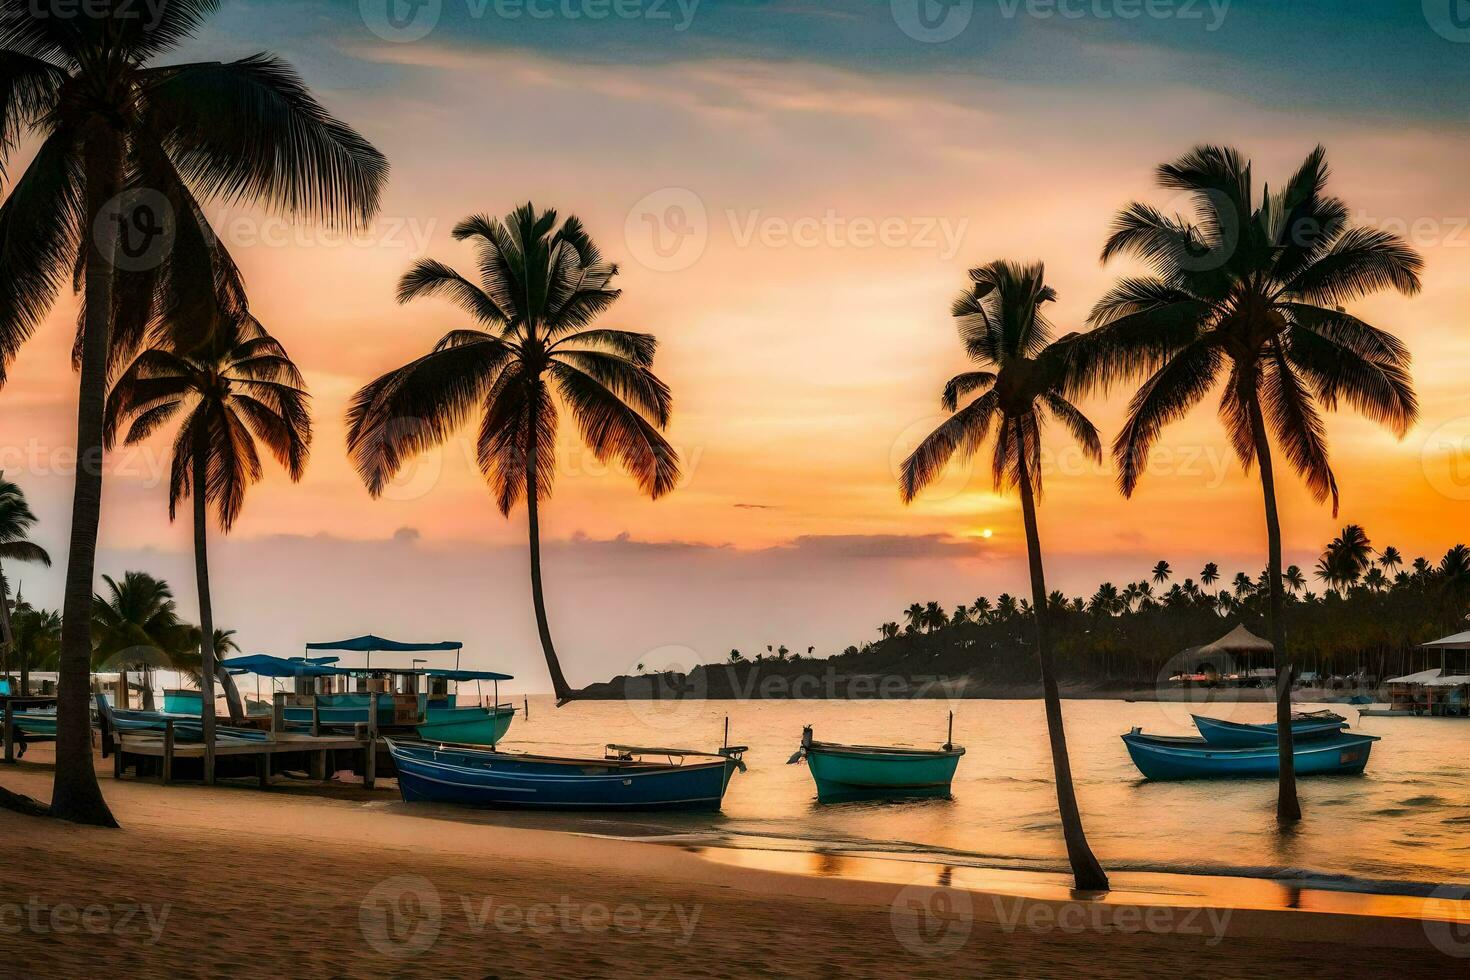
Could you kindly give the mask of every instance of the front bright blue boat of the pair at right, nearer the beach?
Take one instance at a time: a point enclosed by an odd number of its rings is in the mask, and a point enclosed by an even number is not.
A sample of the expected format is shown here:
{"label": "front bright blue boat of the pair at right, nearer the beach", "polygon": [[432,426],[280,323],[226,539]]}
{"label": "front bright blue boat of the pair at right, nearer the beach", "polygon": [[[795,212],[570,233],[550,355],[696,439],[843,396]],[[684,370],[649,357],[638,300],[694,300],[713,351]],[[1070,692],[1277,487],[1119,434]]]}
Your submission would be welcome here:
{"label": "front bright blue boat of the pair at right, nearer the beach", "polygon": [[[1298,776],[1361,773],[1376,735],[1338,732],[1297,742],[1292,755]],[[1145,779],[1250,779],[1280,774],[1274,743],[1226,748],[1201,738],[1144,735],[1133,729],[1123,736],[1127,754]]]}

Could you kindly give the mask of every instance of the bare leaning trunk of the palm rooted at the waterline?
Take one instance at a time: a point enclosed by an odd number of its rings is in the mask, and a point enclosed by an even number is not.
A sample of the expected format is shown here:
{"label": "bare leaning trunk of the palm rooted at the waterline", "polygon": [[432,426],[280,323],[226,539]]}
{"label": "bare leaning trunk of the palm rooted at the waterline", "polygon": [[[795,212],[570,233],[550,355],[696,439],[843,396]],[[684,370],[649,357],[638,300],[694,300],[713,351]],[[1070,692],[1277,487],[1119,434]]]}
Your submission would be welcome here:
{"label": "bare leaning trunk of the palm rooted at the waterline", "polygon": [[1051,741],[1051,768],[1057,780],[1057,808],[1061,811],[1061,836],[1067,842],[1067,861],[1079,890],[1105,892],[1107,873],[1088,845],[1078,810],[1078,793],[1072,786],[1072,761],[1067,757],[1067,732],[1061,723],[1061,693],[1053,673],[1051,648],[1047,645],[1047,580],[1041,567],[1041,535],[1036,530],[1036,501],[1030,492],[1030,470],[1020,458],[1020,510],[1026,520],[1026,552],[1030,558],[1030,604],[1036,619],[1036,658],[1041,661],[1041,692],[1047,705],[1047,736]]}

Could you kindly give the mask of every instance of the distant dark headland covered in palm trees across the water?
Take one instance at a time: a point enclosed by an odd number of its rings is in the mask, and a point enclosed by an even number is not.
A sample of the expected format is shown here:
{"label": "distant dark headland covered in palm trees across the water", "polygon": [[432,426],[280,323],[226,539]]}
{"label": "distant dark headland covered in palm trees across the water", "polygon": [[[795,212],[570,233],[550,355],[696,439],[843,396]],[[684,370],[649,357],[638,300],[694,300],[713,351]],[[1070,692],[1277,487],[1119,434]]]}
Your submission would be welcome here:
{"label": "distant dark headland covered in palm trees across the water", "polygon": [[[1283,573],[1297,661],[1324,676],[1363,671],[1382,680],[1410,670],[1420,644],[1464,627],[1470,547],[1454,545],[1438,561],[1414,558],[1405,567],[1398,548],[1360,551],[1366,541],[1363,529],[1349,525],[1323,548],[1316,574],[1320,592],[1307,589],[1298,566]],[[1170,657],[1216,639],[1230,621],[1254,629],[1264,621],[1264,570],[1257,576],[1239,572],[1232,588],[1220,591],[1208,588],[1219,580],[1213,561],[1198,580],[1185,577],[1164,589],[1152,588],[1151,576],[1152,570],[1123,588],[1104,582],[1092,595],[1047,595],[1069,677],[1089,685],[1151,685]],[[1010,594],[982,595],[948,613],[939,602],[914,602],[900,620],[878,626],[878,641],[851,645],[842,655],[944,658],[947,666],[957,658],[995,682],[1023,682],[1025,661],[1017,654],[1032,619],[1032,602]]]}

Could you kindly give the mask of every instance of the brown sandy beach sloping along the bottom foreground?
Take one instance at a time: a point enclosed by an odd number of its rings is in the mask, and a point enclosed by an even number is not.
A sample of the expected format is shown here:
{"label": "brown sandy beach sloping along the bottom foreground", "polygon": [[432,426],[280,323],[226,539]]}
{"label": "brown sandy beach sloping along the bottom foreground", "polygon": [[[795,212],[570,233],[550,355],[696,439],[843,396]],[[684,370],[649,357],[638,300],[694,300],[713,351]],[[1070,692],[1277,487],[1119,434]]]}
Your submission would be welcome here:
{"label": "brown sandy beach sloping along the bottom foreground", "polygon": [[[50,746],[0,773],[50,792]],[[98,767],[100,771],[106,771]],[[1454,973],[1454,927],[786,874],[487,826],[392,785],[103,789],[121,830],[0,813],[6,976],[1200,977]],[[1448,937],[1448,939],[1446,939]],[[1446,948],[1448,946],[1448,948]]]}

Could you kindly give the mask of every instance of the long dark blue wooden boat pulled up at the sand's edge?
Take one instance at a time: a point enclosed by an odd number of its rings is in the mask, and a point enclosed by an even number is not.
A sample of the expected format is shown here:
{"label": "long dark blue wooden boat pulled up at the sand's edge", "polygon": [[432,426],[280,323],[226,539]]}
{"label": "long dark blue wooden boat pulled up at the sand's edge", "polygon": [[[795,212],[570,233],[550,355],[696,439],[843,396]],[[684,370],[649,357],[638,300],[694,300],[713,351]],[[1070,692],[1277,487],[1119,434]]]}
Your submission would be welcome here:
{"label": "long dark blue wooden boat pulled up at the sand's edge", "polygon": [[[404,802],[538,810],[719,810],[745,746],[609,745],[607,758],[522,755],[384,739]],[[644,757],[663,755],[651,763]],[[697,761],[684,761],[692,758]]]}

